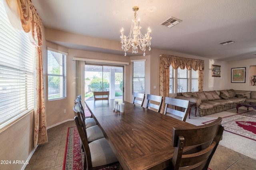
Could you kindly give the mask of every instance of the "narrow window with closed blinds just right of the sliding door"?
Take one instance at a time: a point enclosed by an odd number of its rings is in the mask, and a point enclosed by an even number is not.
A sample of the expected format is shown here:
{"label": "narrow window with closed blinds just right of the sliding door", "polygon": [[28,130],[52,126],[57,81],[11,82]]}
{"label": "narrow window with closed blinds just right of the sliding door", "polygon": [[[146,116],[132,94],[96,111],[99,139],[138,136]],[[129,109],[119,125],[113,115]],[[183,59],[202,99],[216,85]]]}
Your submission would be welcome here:
{"label": "narrow window with closed blinds just right of the sliding door", "polygon": [[132,94],[145,93],[145,61],[132,61]]}

